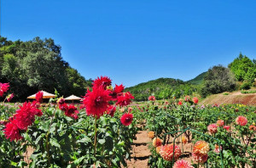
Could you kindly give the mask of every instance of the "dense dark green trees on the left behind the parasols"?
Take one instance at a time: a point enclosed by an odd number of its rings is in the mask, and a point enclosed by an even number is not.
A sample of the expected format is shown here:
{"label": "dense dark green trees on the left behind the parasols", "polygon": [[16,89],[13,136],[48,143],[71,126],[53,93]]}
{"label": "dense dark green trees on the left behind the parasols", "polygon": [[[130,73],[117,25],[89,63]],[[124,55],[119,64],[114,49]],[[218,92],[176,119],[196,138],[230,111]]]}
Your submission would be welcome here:
{"label": "dense dark green trees on the left behind the parasols", "polygon": [[0,37],[0,82],[9,82],[16,100],[44,90],[63,96],[84,95],[91,80],[85,80],[61,57],[61,46],[51,38],[12,42]]}

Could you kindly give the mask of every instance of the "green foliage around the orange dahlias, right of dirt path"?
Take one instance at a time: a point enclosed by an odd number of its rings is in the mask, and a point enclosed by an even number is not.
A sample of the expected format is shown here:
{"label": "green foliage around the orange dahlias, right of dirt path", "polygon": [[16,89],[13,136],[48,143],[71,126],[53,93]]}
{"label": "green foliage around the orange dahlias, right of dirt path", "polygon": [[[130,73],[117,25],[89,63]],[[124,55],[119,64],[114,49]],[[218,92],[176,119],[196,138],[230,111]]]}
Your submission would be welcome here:
{"label": "green foliage around the orange dahlias, right of dirt path", "polygon": [[[174,143],[174,138],[176,138],[175,145],[183,151],[179,159],[191,157],[195,142],[203,140],[209,143],[210,151],[207,153],[207,162],[198,164],[195,160],[191,160],[194,167],[221,167],[221,157],[224,167],[254,167],[256,165],[256,155],[253,152],[256,149],[256,130],[253,131],[250,126],[255,125],[253,123],[256,117],[255,110],[255,107],[242,104],[214,104],[201,107],[189,102],[178,105],[177,101],[168,105],[154,104],[148,106],[147,128],[148,131],[154,132],[155,137],[162,139],[162,145]],[[246,126],[236,124],[235,119],[239,115],[247,118]],[[227,131],[224,126],[218,126],[216,133],[208,132],[207,126],[216,123],[217,120],[224,120],[224,125],[230,126],[230,130]],[[183,132],[186,128],[192,131]],[[181,137],[186,137],[188,144],[181,143]],[[221,149],[216,152],[216,145],[219,143]],[[192,145],[191,150],[190,145]],[[149,144],[149,148],[152,152],[148,160],[150,167],[172,167],[174,162],[163,160],[153,143]]]}

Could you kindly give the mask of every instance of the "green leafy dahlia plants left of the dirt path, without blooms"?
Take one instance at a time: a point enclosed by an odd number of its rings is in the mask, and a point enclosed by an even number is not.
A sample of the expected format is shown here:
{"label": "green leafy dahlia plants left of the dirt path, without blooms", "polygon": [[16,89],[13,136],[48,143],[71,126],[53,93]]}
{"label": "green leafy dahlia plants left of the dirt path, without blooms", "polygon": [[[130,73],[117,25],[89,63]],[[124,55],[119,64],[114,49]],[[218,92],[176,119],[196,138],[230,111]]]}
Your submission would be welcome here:
{"label": "green leafy dahlia plants left of the dirt path, without blooms", "polygon": [[[137,133],[139,113],[134,114],[130,126],[123,126],[119,120],[123,115],[120,111],[114,117],[103,115],[95,120],[80,110],[79,119],[73,120],[53,104],[51,106],[42,108],[44,115],[37,117],[33,125],[22,132],[24,138],[18,142],[6,139],[2,131],[5,126],[0,125],[1,167],[87,168],[95,164],[96,167],[118,168],[126,165],[125,160],[130,158],[131,143]],[[13,113],[13,108],[0,105],[0,120],[7,120]],[[33,150],[30,157],[26,156],[27,148]]]}

